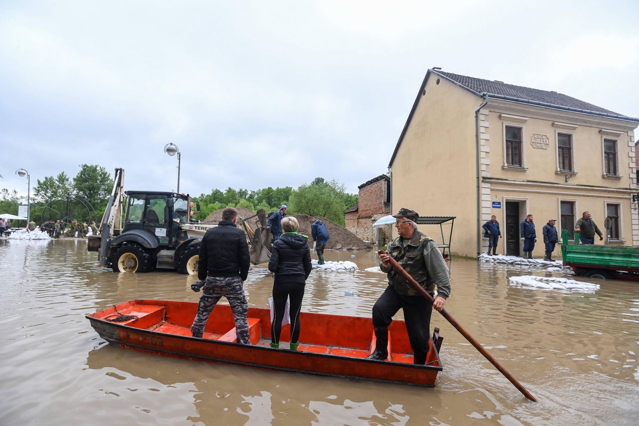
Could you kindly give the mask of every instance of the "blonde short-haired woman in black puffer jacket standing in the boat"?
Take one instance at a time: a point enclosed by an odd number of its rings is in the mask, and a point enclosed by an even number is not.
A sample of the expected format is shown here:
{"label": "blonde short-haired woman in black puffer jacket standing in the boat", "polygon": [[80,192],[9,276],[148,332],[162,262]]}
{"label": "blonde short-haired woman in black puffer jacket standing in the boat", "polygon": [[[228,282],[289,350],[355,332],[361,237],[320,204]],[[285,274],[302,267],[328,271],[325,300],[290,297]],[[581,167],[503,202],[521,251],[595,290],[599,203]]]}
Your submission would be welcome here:
{"label": "blonde short-haired woman in black puffer jacket standing in the boat", "polygon": [[300,310],[304,298],[304,285],[311,274],[311,251],[306,235],[297,233],[300,224],[297,219],[287,216],[282,219],[282,233],[273,242],[268,270],[275,272],[273,281],[273,323],[271,324],[271,347],[279,348],[282,333],[282,319],[286,299],[291,298],[291,351],[297,351],[300,338]]}

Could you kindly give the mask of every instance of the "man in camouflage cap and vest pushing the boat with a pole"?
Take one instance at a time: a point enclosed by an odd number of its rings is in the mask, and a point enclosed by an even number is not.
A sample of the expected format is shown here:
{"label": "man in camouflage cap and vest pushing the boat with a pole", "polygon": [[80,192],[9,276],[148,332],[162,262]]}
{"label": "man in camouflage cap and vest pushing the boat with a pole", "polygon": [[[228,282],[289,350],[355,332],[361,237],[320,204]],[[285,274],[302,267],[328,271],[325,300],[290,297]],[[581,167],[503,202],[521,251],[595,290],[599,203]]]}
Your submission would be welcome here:
{"label": "man in camouflage cap and vest pushing the boat with a pole", "polygon": [[[435,242],[417,230],[414,210],[400,209],[393,217],[399,237],[389,243],[386,253],[380,255],[380,268],[387,272],[389,287],[373,306],[373,327],[377,339],[375,350],[369,359],[386,359],[389,356],[389,325],[392,317],[401,308],[408,331],[410,346],[413,348],[413,363],[426,363],[429,351],[429,333],[433,306],[441,311],[450,295],[450,276],[442,253]],[[406,272],[431,295],[435,285],[438,294],[432,305],[413,287],[412,283],[390,265],[394,258]]]}

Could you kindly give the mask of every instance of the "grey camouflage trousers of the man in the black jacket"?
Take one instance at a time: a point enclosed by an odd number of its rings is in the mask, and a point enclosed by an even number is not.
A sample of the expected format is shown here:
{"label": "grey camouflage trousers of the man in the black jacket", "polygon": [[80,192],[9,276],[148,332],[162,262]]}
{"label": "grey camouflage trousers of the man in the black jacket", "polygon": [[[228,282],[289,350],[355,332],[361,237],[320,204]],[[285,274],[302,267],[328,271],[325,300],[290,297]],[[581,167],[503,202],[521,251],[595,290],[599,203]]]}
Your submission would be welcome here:
{"label": "grey camouflage trousers of the man in the black jacket", "polygon": [[208,317],[213,312],[213,308],[222,296],[226,297],[233,311],[235,319],[235,331],[238,336],[238,342],[250,345],[249,340],[249,322],[246,319],[249,313],[249,303],[244,296],[244,287],[242,279],[238,276],[231,277],[206,277],[203,287],[204,294],[200,297],[197,305],[196,319],[191,326],[191,334],[193,337],[202,337],[204,334],[204,326]]}

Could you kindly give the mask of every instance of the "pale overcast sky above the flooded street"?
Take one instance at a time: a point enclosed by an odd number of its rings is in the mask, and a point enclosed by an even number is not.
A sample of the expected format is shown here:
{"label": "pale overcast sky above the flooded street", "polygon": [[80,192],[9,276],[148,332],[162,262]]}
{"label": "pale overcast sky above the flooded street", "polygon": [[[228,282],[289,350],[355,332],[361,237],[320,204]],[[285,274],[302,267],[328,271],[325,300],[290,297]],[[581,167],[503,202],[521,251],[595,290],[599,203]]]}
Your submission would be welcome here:
{"label": "pale overcast sky above the flooded street", "polygon": [[315,177],[357,193],[432,67],[639,117],[637,1],[391,4],[0,1],[0,187],[86,163],[175,190],[172,142],[191,195]]}

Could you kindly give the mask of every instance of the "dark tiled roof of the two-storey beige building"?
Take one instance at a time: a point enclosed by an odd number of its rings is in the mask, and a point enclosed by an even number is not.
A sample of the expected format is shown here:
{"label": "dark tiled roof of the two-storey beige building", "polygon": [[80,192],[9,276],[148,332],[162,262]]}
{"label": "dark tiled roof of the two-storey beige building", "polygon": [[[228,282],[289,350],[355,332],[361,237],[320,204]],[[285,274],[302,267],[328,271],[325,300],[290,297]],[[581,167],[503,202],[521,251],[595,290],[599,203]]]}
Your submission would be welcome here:
{"label": "dark tiled roof of the two-storey beige building", "polygon": [[455,81],[479,94],[489,93],[493,95],[518,98],[521,100],[543,102],[545,104],[553,104],[567,108],[583,109],[585,111],[592,111],[594,113],[621,115],[619,113],[615,113],[614,111],[610,111],[610,109],[605,109],[593,104],[589,104],[588,102],[583,102],[583,100],[564,95],[563,93],[557,93],[556,91],[539,90],[525,86],[515,86],[514,84],[507,84],[493,80],[477,79],[475,77],[452,74],[452,72],[443,72],[441,70],[434,70],[433,72],[443,75],[443,77]]}

